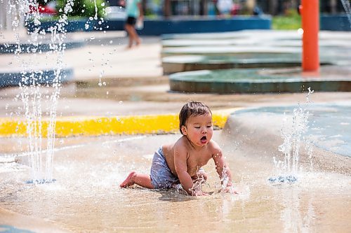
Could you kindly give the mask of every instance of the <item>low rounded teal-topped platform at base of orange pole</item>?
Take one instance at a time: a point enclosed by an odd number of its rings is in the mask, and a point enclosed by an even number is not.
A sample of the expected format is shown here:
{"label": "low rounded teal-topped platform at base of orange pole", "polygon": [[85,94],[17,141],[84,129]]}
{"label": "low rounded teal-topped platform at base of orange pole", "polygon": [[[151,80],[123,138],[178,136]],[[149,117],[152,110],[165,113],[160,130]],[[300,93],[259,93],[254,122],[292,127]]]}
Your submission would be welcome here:
{"label": "low rounded teal-topped platform at base of orange pole", "polygon": [[[330,76],[333,71],[335,75]],[[350,70],[329,66],[319,76],[301,73],[295,69],[225,69],[216,71],[188,71],[169,76],[172,91],[208,93],[267,93],[303,92],[311,87],[314,91],[350,92]]]}

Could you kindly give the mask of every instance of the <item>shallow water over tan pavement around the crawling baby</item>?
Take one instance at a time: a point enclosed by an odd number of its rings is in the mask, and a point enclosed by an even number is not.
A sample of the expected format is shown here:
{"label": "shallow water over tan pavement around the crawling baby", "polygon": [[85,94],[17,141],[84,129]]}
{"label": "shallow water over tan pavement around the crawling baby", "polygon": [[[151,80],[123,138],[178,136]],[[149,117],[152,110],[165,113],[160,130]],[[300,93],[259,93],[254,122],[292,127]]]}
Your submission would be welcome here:
{"label": "shallow water over tan pavement around the crawling baby", "polygon": [[[154,150],[180,134],[76,138],[58,146],[51,184],[29,185],[25,157],[12,170],[0,170],[0,208],[44,219],[72,232],[346,232],[350,228],[350,174],[301,174],[292,184],[269,183],[272,156],[238,148],[227,129],[216,131],[239,195],[221,194],[212,162],[208,197],[174,190],[119,188],[129,171],[148,173]],[[69,139],[67,139],[69,140]],[[251,151],[251,152],[250,152]]]}

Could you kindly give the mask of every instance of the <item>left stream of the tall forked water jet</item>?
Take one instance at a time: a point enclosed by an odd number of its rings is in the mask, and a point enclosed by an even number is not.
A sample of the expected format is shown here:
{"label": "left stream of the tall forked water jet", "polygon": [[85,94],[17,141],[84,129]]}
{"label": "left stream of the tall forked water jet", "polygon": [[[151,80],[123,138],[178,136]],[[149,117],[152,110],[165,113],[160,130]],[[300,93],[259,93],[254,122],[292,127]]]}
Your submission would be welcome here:
{"label": "left stream of the tall forked water jet", "polygon": [[[23,48],[20,44],[20,34],[18,29],[24,19],[27,22],[29,19],[34,21],[35,25],[40,25],[40,15],[37,7],[37,1],[13,1],[9,2],[9,15],[12,15],[12,27],[15,32],[15,56],[18,63],[21,65],[21,80],[18,83],[20,87],[20,99],[23,103],[23,111],[25,114],[25,122],[27,125],[28,134],[28,152],[29,164],[33,181],[39,181],[44,176],[41,169],[41,92],[39,82],[43,78],[42,71],[37,71],[34,68],[34,62],[25,62],[21,59]],[[36,61],[38,45],[40,42],[39,29],[30,34],[31,48],[29,51],[33,56],[31,61]]]}

